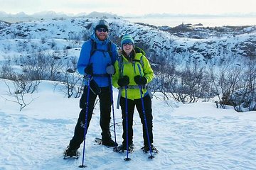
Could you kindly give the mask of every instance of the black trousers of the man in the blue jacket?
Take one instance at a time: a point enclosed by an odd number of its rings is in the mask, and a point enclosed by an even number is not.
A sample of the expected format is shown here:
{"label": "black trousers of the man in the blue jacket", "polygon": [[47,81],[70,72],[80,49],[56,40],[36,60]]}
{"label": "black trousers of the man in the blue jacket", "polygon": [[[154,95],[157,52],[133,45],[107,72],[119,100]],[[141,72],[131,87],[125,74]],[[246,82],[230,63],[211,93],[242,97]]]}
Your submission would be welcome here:
{"label": "black trousers of the man in the blue jacket", "polygon": [[[98,94],[100,98],[100,128],[102,129],[102,140],[109,140],[110,134],[110,113],[111,113],[111,92],[110,87],[101,88],[101,93]],[[90,120],[92,119],[92,112],[95,105],[97,95],[93,94],[90,90],[89,95],[89,108],[87,113],[87,128],[89,128]],[[86,100],[87,100],[87,86],[85,86],[84,93],[80,99],[84,103],[85,107],[82,108],[79,114],[78,122],[75,125],[75,132],[72,140],[70,140],[70,148],[78,149],[83,142],[85,132],[85,113],[86,113]],[[86,131],[87,133],[87,131]]]}

